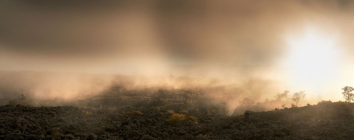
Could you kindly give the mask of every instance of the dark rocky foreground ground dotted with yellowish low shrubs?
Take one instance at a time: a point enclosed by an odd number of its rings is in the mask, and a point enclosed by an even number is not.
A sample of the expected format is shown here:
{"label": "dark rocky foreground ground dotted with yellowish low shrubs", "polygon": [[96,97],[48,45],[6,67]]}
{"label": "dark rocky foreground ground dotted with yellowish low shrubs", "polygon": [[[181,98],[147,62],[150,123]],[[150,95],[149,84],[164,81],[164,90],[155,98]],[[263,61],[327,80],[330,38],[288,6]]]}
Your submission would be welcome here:
{"label": "dark rocky foreground ground dotted with yellowish low shrubs", "polygon": [[[330,103],[325,105],[335,106]],[[354,119],[323,104],[226,116],[159,107],[0,106],[0,139],[352,139]],[[327,107],[328,108],[328,107]],[[307,112],[307,113],[306,113]],[[327,113],[327,114],[328,114]],[[296,115],[298,114],[298,115]],[[316,116],[314,115],[316,114]]]}

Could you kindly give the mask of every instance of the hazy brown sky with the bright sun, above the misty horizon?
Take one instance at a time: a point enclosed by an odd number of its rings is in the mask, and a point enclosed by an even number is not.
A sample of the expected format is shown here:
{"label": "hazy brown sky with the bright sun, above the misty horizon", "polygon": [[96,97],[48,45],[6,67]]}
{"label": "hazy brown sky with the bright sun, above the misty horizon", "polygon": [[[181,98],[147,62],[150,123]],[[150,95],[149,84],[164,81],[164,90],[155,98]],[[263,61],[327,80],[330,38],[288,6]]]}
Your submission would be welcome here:
{"label": "hazy brown sky with the bright sun, above the misty horizon", "polygon": [[1,1],[0,70],[269,80],[342,100],[354,4]]}

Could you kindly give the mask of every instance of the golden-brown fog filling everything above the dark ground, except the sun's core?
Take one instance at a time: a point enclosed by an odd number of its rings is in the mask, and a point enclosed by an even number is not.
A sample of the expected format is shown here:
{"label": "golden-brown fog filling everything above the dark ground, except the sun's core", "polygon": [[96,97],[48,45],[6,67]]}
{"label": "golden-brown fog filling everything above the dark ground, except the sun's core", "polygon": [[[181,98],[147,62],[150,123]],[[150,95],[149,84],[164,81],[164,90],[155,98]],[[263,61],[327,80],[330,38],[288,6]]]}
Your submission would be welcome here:
{"label": "golden-brown fog filling everything above the dark ground, except the sun's core", "polygon": [[[201,87],[230,97],[232,107],[284,90],[306,91],[303,105],[342,100],[340,88],[354,82],[353,6],[344,0],[2,1],[0,98],[73,100],[123,84]],[[326,65],[336,69],[312,77],[321,66],[287,61],[287,40],[307,30],[336,38],[338,58]],[[317,49],[306,51],[319,56]]]}

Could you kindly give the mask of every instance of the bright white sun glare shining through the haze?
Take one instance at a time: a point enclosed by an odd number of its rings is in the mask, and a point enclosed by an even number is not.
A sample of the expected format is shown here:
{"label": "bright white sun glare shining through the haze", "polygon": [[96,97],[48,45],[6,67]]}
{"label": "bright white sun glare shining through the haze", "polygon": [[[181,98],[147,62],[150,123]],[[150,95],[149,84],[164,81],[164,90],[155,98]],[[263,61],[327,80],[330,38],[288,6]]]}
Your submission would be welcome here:
{"label": "bright white sun glare shining through the haze", "polygon": [[[333,36],[307,31],[287,38],[285,65],[292,85],[316,90],[337,77],[338,53]],[[304,89],[305,90],[305,89]]]}

